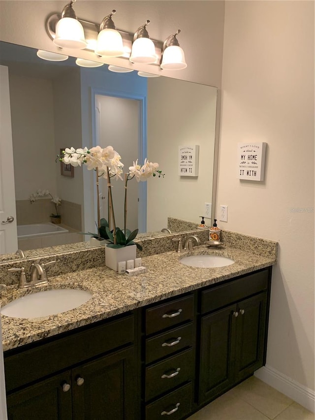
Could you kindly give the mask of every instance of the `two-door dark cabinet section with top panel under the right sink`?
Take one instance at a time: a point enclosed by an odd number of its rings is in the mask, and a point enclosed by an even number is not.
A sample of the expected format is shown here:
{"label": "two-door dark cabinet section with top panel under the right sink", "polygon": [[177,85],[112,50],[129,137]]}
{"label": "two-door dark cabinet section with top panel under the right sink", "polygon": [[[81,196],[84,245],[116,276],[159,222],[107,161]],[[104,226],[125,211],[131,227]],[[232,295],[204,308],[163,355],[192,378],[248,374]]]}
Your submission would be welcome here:
{"label": "two-door dark cabinet section with top panel under the right sink", "polygon": [[[203,293],[202,311],[210,312],[200,319],[199,404],[213,400],[263,366],[268,278],[268,271],[257,273],[254,284],[252,275],[244,277],[232,296],[228,284]],[[242,297],[252,291],[256,294],[226,305],[235,295]]]}

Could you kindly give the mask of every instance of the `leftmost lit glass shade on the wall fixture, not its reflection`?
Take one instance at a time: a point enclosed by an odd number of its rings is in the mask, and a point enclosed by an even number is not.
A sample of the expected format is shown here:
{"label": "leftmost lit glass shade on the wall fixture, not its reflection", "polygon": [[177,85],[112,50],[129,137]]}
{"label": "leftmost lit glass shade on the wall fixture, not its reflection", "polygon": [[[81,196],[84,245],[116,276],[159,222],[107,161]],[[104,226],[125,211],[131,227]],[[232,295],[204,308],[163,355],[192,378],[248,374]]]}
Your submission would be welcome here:
{"label": "leftmost lit glass shade on the wall fixture, not its reflection", "polygon": [[54,44],[61,48],[82,50],[87,46],[81,23],[73,18],[62,18],[56,25]]}

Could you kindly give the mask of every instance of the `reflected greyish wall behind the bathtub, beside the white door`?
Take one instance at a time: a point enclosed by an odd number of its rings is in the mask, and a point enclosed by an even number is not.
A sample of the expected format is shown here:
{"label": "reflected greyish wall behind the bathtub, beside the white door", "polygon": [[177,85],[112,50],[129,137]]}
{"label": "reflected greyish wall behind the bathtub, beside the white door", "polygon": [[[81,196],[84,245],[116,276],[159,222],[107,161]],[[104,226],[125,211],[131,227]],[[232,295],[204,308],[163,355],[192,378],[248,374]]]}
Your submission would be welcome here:
{"label": "reflected greyish wall behind the bathtub, beside the white door", "polygon": [[[57,193],[54,109],[51,80],[9,75],[15,197],[25,200],[38,189]],[[38,174],[40,177],[38,178]]]}

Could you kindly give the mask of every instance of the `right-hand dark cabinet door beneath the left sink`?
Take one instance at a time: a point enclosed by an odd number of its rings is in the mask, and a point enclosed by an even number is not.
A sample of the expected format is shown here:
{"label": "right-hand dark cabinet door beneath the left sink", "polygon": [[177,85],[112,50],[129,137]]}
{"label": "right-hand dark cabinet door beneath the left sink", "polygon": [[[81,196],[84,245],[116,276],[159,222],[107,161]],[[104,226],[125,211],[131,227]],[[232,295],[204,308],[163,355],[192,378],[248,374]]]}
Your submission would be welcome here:
{"label": "right-hand dark cabinet door beneath the left sink", "polygon": [[72,369],[73,420],[134,420],[133,347]]}

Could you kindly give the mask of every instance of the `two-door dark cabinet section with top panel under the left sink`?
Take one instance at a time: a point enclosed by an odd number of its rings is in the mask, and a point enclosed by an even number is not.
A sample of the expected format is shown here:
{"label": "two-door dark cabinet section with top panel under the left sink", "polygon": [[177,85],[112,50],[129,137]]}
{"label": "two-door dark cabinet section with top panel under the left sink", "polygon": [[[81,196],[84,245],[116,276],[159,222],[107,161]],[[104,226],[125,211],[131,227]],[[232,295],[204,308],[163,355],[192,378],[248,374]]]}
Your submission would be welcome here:
{"label": "two-door dark cabinet section with top panel under the left sink", "polygon": [[[137,419],[139,387],[133,340],[133,316],[126,316],[22,353],[6,354],[8,419]],[[101,355],[95,357],[97,354]],[[42,363],[48,378],[38,368]],[[63,370],[65,365],[68,369]],[[62,372],[56,374],[56,370]]]}

